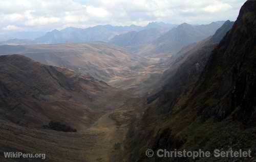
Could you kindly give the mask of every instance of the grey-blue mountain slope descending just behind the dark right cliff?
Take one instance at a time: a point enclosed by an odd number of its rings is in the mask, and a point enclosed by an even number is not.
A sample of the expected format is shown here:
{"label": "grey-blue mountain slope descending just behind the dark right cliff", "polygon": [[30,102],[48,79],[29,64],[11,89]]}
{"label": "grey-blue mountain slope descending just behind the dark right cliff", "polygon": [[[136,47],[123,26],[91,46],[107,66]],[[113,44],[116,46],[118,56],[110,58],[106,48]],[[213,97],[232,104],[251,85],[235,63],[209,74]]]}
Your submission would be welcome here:
{"label": "grey-blue mountain slope descending just behind the dark right cliff", "polygon": [[227,20],[212,37],[185,46],[178,53],[164,60],[163,64],[169,69],[164,71],[162,78],[155,85],[158,90],[164,88],[157,94],[148,97],[148,102],[155,100],[163,91],[168,93],[169,100],[174,100],[173,97],[180,95],[187,88],[187,85],[195,84],[209,59],[211,51],[220,42],[216,39],[222,40],[232,28],[233,23]]}

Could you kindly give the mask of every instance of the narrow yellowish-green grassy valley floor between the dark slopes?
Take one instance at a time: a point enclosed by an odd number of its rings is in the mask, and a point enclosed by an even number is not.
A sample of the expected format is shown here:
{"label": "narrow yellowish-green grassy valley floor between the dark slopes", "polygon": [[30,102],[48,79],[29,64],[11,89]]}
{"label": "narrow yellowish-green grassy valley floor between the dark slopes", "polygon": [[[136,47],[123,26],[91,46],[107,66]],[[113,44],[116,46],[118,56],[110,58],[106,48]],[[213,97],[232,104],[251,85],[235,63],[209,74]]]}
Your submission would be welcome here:
{"label": "narrow yellowish-green grassy valley floor between the dark slopes", "polygon": [[83,148],[84,161],[120,162],[118,158],[124,150],[123,141],[130,123],[140,114],[140,100],[131,98],[120,109],[107,112],[90,128],[82,131],[83,139],[87,139]]}

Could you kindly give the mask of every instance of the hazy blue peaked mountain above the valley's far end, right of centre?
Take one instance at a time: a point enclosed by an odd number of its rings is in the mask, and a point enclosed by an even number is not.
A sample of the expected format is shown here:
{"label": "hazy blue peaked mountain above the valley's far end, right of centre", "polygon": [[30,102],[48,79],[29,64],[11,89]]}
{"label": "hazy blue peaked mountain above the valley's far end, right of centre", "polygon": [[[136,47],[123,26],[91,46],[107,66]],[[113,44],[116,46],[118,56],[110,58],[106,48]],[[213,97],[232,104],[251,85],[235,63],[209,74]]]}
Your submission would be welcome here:
{"label": "hazy blue peaked mountain above the valley's far end, right of centre", "polygon": [[214,35],[222,24],[212,22],[207,25],[191,25],[183,23],[167,33],[162,34],[152,43],[141,46],[133,52],[142,56],[159,55],[161,53],[177,53],[182,47],[201,41]]}

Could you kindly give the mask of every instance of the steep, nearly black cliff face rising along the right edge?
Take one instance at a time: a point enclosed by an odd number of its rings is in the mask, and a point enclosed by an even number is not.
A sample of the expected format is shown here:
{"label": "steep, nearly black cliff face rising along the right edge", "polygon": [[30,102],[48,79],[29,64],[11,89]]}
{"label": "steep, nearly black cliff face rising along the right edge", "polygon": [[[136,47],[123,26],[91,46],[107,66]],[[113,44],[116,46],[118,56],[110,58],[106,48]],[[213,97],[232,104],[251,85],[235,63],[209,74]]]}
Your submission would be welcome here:
{"label": "steep, nearly black cliff face rising along the right edge", "polygon": [[247,1],[232,30],[212,52],[193,101],[215,102],[201,106],[191,104],[204,116],[222,120],[231,114],[240,114],[245,122],[255,119],[255,9],[256,2]]}

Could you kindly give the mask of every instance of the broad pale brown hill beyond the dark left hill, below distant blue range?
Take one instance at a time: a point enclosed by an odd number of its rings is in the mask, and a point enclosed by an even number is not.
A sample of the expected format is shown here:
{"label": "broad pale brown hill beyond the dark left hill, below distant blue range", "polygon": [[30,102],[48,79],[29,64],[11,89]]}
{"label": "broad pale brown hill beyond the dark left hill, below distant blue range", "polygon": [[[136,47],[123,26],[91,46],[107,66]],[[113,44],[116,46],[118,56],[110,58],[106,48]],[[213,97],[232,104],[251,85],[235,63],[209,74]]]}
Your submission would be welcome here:
{"label": "broad pale brown hill beyond the dark left hill, below distant blue range", "polygon": [[11,54],[24,55],[42,64],[66,67],[105,81],[130,75],[140,63],[139,58],[130,56],[123,48],[104,42],[0,46],[0,55]]}

